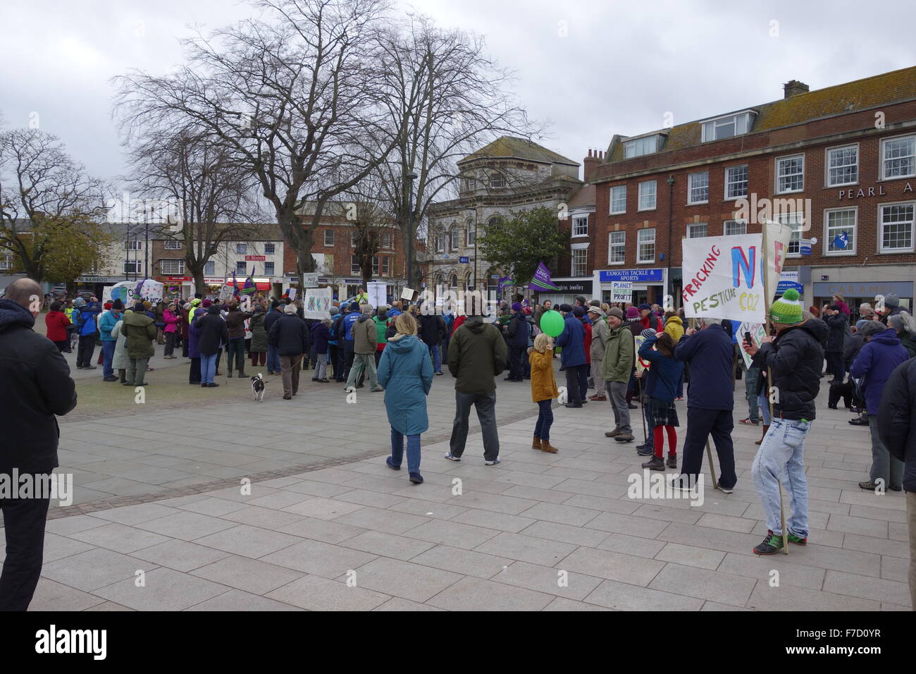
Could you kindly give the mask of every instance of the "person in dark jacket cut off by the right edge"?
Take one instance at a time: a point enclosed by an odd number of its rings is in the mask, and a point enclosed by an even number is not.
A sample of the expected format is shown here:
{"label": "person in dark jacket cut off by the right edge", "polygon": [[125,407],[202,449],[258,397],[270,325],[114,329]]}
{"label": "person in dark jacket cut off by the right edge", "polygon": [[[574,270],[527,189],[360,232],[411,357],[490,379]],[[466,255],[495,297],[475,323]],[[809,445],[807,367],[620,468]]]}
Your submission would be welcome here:
{"label": "person in dark jacket cut off by the right edge", "polygon": [[878,405],[878,435],[890,455],[904,462],[903,490],[907,492],[910,526],[910,598],[916,608],[916,359],[890,373]]}

